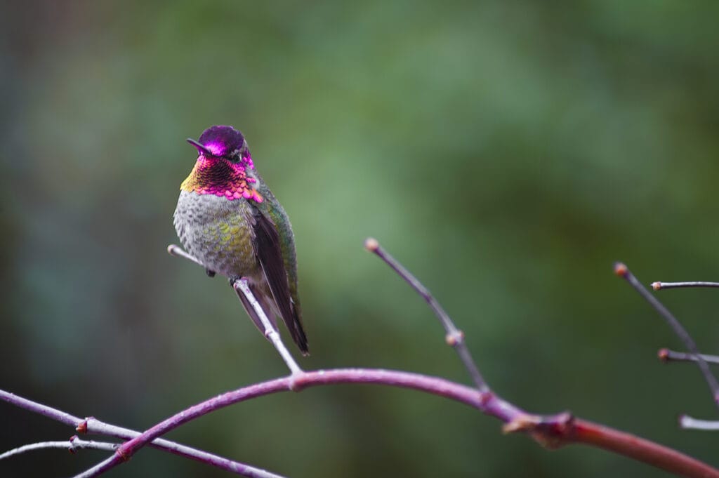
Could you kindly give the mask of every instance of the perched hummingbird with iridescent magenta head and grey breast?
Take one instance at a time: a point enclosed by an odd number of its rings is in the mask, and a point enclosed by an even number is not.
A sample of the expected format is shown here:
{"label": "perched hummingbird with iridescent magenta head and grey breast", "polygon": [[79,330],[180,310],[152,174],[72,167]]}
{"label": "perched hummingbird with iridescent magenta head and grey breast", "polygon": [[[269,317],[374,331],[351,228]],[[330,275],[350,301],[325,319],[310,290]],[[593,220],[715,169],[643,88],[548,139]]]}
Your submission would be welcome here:
{"label": "perched hummingbird with iridescent magenta head and grey breast", "polygon": [[[207,275],[247,279],[267,317],[285,322],[303,355],[309,354],[297,292],[297,260],[292,226],[285,209],[267,188],[252,162],[247,141],[231,126],[206,129],[187,140],[198,157],[180,185],[173,216],[183,247]],[[255,309],[240,294],[244,310],[261,332]]]}

